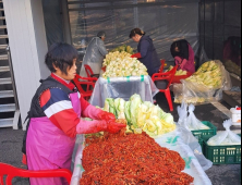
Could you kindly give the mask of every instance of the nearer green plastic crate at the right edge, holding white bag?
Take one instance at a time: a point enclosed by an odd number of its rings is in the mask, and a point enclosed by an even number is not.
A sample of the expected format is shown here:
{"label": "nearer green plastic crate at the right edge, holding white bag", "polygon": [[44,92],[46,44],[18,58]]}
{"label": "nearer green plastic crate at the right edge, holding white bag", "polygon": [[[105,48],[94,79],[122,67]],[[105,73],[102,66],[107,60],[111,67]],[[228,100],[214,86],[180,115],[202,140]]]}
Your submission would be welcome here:
{"label": "nearer green plastic crate at the right edge, holding white bag", "polygon": [[215,165],[241,163],[241,145],[208,146],[207,141],[209,138],[210,136],[203,136],[204,155]]}

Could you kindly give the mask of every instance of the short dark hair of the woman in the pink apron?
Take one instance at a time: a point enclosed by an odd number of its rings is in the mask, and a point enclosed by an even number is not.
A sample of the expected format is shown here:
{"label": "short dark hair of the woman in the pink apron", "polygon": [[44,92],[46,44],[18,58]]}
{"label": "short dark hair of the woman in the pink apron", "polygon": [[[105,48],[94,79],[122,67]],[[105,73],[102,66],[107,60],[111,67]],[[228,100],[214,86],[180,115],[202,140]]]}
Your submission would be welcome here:
{"label": "short dark hair of the woman in the pink apron", "polygon": [[56,72],[55,64],[62,73],[68,74],[68,67],[72,67],[73,60],[77,59],[77,51],[73,46],[58,42],[49,48],[45,63],[52,73]]}

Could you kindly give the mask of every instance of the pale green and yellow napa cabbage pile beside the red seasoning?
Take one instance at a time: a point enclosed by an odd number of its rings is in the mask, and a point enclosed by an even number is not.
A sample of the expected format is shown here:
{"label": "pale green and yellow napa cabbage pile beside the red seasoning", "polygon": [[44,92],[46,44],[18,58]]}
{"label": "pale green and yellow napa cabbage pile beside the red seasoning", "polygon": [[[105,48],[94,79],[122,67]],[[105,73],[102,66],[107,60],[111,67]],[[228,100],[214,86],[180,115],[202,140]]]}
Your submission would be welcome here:
{"label": "pale green and yellow napa cabbage pile beside the red seasoning", "polygon": [[176,130],[173,116],[164,112],[159,106],[143,102],[140,95],[133,95],[129,101],[122,98],[105,101],[105,111],[113,113],[117,119],[128,121],[128,132],[144,131],[152,137],[170,133]]}

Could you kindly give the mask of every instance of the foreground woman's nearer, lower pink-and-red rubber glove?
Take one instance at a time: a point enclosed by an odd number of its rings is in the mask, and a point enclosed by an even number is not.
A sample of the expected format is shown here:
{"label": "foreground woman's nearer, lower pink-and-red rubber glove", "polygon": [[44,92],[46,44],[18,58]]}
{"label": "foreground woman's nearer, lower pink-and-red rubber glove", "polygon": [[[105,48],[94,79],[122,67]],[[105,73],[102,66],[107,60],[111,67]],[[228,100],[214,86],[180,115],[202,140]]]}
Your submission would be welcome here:
{"label": "foreground woman's nearer, lower pink-and-red rubber glove", "polygon": [[76,126],[77,134],[94,134],[99,132],[109,132],[111,134],[118,133],[120,130],[126,127],[125,124],[116,123],[116,121],[84,121],[81,120]]}

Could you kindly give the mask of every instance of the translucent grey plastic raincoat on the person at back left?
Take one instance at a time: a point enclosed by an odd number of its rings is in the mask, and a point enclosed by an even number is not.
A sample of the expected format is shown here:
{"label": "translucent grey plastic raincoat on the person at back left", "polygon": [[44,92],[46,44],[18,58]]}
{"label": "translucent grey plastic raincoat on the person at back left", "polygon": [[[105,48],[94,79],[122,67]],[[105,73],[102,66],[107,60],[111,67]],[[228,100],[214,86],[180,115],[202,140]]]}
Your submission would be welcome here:
{"label": "translucent grey plastic raincoat on the person at back left", "polygon": [[80,76],[87,77],[84,65],[87,64],[93,70],[94,74],[100,74],[105,55],[108,53],[105,42],[95,37],[90,40],[86,54],[84,55]]}

